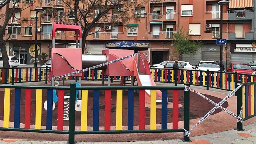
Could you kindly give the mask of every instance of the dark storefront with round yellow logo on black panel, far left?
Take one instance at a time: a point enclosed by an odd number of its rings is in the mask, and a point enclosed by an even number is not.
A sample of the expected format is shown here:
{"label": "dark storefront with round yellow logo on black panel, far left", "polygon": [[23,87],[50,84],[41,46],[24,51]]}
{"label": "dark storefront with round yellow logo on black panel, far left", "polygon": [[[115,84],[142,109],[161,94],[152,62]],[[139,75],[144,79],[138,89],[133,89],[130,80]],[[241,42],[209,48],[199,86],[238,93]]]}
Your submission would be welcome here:
{"label": "dark storefront with round yellow logo on black panel, far left", "polygon": [[[38,56],[36,62],[41,64],[41,44],[37,45]],[[13,56],[19,60],[20,65],[33,65],[35,63],[35,44],[33,43],[13,43]]]}

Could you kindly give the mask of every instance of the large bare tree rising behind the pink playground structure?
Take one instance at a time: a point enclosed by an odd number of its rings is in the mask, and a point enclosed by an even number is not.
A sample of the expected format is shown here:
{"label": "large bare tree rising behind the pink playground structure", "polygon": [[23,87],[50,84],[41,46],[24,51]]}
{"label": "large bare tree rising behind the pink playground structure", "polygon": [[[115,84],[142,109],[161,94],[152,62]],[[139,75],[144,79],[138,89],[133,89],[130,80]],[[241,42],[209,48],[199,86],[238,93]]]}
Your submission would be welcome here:
{"label": "large bare tree rising behind the pink playground structure", "polygon": [[98,32],[94,30],[95,26],[104,28],[107,24],[122,25],[127,28],[130,21],[139,21],[140,9],[147,0],[64,0],[62,2],[69,9],[66,15],[81,24],[84,54],[87,36]]}

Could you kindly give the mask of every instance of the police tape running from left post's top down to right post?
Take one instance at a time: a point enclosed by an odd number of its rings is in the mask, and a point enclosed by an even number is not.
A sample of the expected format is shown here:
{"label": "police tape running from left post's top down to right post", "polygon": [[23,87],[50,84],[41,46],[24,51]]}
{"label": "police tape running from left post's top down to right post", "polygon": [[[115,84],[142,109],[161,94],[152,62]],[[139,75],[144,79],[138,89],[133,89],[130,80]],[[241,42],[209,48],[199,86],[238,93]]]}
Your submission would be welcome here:
{"label": "police tape running from left post's top down to right post", "polygon": [[[216,102],[214,102],[214,101],[212,101],[211,99],[209,99],[208,97],[202,95],[202,94],[199,93],[198,91],[193,90],[192,88],[190,88],[190,87],[188,87],[188,86],[184,86],[184,87],[185,87],[185,90],[191,89],[193,92],[195,92],[196,94],[200,95],[202,98],[206,99],[207,101],[209,101],[210,103],[214,104],[215,106],[218,106]],[[232,113],[232,112],[229,111],[228,109],[225,109],[225,108],[222,107],[222,106],[218,106],[218,108],[221,109],[222,111],[225,111],[226,113],[232,115],[234,118],[237,119],[237,122],[238,122],[238,121],[243,122],[243,119],[242,119],[241,117],[239,117],[238,115]],[[243,112],[242,109],[243,109],[243,107],[241,108],[240,113]]]}

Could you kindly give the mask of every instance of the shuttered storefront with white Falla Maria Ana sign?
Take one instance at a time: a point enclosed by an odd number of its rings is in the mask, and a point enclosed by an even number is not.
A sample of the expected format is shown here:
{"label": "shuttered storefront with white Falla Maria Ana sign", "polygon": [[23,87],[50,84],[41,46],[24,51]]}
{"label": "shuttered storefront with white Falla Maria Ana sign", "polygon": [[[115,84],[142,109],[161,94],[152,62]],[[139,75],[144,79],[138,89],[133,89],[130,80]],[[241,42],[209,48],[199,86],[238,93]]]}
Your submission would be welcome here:
{"label": "shuttered storefront with white Falla Maria Ana sign", "polygon": [[256,61],[256,46],[249,45],[236,45],[235,49],[231,51],[231,63],[249,63]]}

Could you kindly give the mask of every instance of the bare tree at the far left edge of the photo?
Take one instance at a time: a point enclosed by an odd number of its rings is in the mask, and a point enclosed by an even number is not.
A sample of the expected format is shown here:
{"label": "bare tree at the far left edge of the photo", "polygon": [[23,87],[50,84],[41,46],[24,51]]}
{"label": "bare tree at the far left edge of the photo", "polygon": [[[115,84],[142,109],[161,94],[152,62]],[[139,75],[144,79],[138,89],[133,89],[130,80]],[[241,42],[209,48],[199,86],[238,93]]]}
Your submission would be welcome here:
{"label": "bare tree at the far left edge of the photo", "polygon": [[[22,10],[29,8],[30,6],[34,5],[35,2],[27,2],[27,0],[1,0],[0,1],[0,48],[2,53],[2,60],[3,60],[3,67],[10,67],[8,63],[8,54],[6,51],[6,41],[10,38],[11,33],[4,39],[4,34],[6,30],[13,29],[13,22],[19,21],[19,24],[27,23],[28,18],[20,18],[16,17],[15,13],[21,12]],[[10,5],[11,4],[11,5]],[[12,18],[12,19],[11,19]],[[10,22],[11,19],[11,22]],[[8,27],[8,24],[10,26]]]}

